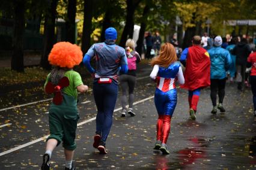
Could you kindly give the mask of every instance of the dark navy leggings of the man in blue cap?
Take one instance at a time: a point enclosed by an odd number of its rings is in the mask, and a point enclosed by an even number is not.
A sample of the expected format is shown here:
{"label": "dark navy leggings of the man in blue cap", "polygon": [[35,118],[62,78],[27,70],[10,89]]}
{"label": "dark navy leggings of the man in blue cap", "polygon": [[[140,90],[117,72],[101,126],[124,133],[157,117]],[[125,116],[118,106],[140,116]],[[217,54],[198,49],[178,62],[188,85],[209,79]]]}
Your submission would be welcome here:
{"label": "dark navy leggings of the man in blue cap", "polygon": [[117,101],[118,85],[112,81],[111,84],[93,83],[93,95],[97,106],[96,134],[106,138],[112,126],[112,116]]}

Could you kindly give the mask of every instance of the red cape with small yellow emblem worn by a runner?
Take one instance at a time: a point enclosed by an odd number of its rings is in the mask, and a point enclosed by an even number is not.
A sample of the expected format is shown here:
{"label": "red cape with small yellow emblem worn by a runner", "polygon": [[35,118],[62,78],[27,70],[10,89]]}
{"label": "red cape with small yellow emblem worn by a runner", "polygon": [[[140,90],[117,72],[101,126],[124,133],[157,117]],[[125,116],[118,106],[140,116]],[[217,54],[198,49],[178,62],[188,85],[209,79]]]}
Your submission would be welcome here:
{"label": "red cape with small yellow emblem worn by a runner", "polygon": [[202,47],[194,45],[188,48],[184,89],[195,90],[210,86],[210,57]]}

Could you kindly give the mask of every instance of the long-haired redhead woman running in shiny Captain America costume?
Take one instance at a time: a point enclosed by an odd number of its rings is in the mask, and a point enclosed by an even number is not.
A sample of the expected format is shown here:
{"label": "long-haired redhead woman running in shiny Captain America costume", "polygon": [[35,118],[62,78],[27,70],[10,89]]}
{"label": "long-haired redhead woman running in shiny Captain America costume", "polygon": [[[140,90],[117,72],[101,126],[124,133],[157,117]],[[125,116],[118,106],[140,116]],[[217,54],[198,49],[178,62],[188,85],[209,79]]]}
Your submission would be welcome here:
{"label": "long-haired redhead woman running in shiny Captain America costume", "polygon": [[154,104],[156,105],[158,120],[154,149],[162,151],[163,154],[169,154],[166,142],[171,129],[171,117],[177,104],[175,81],[178,80],[178,83],[184,84],[180,63],[176,61],[177,55],[174,46],[165,43],[160,48],[159,56],[151,62],[154,68],[150,77],[157,82]]}

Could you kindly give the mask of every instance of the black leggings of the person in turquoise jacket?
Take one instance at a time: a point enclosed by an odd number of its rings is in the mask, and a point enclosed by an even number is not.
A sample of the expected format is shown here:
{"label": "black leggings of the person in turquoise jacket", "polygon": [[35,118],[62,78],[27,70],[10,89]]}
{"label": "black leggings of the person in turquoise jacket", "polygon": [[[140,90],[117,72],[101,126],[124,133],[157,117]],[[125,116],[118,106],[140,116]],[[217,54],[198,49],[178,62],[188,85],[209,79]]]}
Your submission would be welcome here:
{"label": "black leggings of the person in turquoise jacket", "polygon": [[216,106],[217,101],[217,91],[219,95],[219,103],[222,104],[225,96],[225,84],[226,78],[224,79],[211,79],[211,99],[213,106]]}

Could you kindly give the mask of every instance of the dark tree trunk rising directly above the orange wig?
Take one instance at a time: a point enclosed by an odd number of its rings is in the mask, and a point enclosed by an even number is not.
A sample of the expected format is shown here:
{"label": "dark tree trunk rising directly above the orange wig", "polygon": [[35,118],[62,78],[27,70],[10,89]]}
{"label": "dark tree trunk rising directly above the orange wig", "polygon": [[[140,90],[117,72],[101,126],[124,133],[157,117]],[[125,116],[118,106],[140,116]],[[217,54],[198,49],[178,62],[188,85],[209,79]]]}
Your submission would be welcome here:
{"label": "dark tree trunk rising directly above the orange wig", "polygon": [[67,41],[75,44],[76,42],[76,0],[69,0],[67,5],[66,19],[66,38]]}

